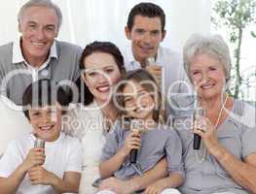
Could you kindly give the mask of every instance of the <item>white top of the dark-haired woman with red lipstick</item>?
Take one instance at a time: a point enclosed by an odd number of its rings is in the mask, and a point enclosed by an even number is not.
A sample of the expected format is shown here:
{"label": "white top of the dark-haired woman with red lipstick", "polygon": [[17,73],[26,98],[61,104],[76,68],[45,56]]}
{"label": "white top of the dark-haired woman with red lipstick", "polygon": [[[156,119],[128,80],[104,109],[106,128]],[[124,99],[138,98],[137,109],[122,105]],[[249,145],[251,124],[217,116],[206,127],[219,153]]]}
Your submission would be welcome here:
{"label": "white top of the dark-haired woman with red lipstick", "polygon": [[79,193],[93,194],[97,189],[91,184],[100,178],[98,165],[101,150],[106,142],[103,129],[104,116],[96,102],[75,108],[69,116],[64,128],[72,131],[66,133],[79,138],[83,145],[83,172]]}

